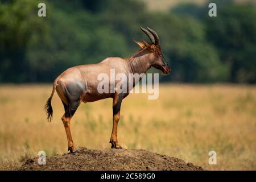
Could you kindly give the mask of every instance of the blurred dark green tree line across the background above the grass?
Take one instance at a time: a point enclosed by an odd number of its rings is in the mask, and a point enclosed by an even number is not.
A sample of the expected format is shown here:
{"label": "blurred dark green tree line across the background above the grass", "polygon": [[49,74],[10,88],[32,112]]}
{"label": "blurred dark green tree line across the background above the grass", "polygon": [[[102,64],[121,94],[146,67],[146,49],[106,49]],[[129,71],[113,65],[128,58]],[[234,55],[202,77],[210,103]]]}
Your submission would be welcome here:
{"label": "blurred dark green tree line across the background above the grass", "polygon": [[65,69],[126,57],[148,40],[139,29],[158,32],[172,68],[162,81],[255,83],[256,9],[217,1],[181,4],[168,12],[148,11],[142,1],[0,0],[0,82],[52,82]]}

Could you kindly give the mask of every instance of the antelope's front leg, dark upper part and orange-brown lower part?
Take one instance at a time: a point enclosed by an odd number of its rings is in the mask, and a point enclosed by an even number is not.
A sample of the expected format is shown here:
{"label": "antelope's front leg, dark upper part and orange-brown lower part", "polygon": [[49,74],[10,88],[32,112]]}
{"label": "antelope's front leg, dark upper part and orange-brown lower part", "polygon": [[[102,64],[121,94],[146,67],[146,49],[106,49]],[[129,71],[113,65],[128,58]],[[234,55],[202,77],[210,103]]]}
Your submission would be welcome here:
{"label": "antelope's front leg, dark upper part and orange-brown lower part", "polygon": [[120,107],[122,103],[123,95],[115,93],[114,98],[113,98],[113,128],[112,128],[112,134],[110,138],[111,143],[111,148],[122,148],[118,144],[118,139],[117,139],[117,126],[118,126],[118,121],[120,117]]}

